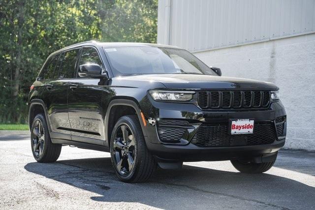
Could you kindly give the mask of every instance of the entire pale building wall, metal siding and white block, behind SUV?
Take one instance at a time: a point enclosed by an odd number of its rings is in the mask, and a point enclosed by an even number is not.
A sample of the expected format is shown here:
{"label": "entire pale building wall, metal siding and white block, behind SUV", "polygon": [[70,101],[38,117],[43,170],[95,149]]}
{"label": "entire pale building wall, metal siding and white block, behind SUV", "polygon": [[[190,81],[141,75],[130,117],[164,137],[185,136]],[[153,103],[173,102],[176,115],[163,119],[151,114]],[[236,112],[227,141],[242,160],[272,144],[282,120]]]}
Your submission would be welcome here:
{"label": "entire pale building wall, metal siding and white block, behind SUV", "polygon": [[193,52],[223,76],[275,83],[285,147],[315,150],[315,0],[159,0],[158,43]]}

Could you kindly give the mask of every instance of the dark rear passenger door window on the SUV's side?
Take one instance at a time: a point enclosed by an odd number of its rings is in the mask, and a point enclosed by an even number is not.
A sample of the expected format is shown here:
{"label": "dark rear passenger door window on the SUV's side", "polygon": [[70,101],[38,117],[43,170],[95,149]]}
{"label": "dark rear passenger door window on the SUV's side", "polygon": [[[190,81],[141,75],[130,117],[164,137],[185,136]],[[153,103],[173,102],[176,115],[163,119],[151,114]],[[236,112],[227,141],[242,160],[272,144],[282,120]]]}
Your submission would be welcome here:
{"label": "dark rear passenger door window on the SUV's side", "polygon": [[75,70],[75,62],[77,59],[79,49],[70,50],[64,53],[63,62],[59,70],[59,77],[62,78],[72,78]]}

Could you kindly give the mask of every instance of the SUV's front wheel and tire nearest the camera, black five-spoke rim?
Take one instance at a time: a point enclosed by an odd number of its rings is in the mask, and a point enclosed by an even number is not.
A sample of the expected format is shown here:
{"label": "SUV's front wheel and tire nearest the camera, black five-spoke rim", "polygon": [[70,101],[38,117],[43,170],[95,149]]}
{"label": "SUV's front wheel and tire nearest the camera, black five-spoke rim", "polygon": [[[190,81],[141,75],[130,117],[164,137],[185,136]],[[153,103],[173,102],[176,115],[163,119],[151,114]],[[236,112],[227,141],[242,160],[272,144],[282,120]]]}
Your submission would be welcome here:
{"label": "SUV's front wheel and tire nearest the camera, black five-spoke rim", "polygon": [[136,116],[123,116],[117,121],[111,135],[110,153],[116,176],[124,182],[144,182],[157,168]]}

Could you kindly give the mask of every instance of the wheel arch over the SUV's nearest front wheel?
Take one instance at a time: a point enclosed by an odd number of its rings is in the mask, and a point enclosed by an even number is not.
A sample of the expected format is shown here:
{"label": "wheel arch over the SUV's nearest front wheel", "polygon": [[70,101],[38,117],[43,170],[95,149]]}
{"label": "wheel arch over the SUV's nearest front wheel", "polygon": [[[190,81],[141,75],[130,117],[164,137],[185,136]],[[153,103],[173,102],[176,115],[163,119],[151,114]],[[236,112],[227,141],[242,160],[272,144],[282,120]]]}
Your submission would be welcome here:
{"label": "wheel arch over the SUV's nearest front wheel", "polygon": [[[120,106],[130,107],[131,109],[134,110],[134,112],[135,112],[135,114],[138,117],[138,120],[140,122],[143,135],[145,138],[147,136],[146,130],[145,130],[145,124],[142,120],[141,110],[140,110],[139,105],[131,99],[113,99],[108,104],[106,115],[105,115],[105,140],[106,140],[105,146],[106,147],[109,147],[109,145],[110,145],[110,137],[111,137],[112,129],[115,126],[115,124],[114,124],[115,121],[113,122],[113,119],[112,119],[113,112],[116,111],[115,108],[118,108]],[[130,109],[129,109],[129,111],[130,111]],[[119,117],[121,117],[121,116],[119,116]]]}

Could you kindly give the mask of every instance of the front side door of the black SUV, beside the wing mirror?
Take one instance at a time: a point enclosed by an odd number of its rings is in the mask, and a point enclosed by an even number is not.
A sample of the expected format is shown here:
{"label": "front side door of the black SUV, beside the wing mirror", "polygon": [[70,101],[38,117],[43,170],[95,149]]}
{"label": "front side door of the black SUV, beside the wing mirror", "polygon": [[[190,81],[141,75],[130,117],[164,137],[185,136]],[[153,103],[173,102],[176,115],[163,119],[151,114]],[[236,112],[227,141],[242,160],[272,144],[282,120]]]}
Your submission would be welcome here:
{"label": "front side door of the black SUV, beside the wing mirror", "polygon": [[[105,71],[104,65],[94,47],[84,47],[78,61],[79,66],[96,63]],[[103,145],[104,123],[102,118],[103,79],[76,78],[70,81],[68,93],[69,120],[72,140]]]}

